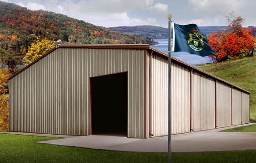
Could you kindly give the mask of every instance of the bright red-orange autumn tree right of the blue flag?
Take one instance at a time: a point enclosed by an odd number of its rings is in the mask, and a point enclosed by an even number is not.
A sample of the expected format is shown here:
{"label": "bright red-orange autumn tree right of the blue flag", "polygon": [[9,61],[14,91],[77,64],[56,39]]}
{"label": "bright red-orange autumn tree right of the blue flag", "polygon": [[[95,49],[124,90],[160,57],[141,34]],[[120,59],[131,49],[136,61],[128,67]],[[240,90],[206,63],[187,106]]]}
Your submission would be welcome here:
{"label": "bright red-orange autumn tree right of the blue flag", "polygon": [[255,38],[251,36],[251,30],[242,27],[244,19],[235,16],[234,12],[229,13],[227,18],[231,31],[220,35],[213,33],[208,37],[209,45],[217,54],[217,57],[211,57],[221,62],[252,56],[255,52]]}

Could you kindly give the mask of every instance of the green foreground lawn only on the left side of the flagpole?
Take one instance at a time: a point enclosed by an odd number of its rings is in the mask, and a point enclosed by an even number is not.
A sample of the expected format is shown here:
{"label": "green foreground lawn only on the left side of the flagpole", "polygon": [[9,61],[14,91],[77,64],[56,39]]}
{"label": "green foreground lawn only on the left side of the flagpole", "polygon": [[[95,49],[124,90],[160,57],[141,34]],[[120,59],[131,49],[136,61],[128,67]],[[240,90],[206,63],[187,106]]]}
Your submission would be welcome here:
{"label": "green foreground lawn only on the left side of the flagpole", "polygon": [[128,153],[34,142],[59,139],[0,134],[0,163],[164,163],[167,154]]}

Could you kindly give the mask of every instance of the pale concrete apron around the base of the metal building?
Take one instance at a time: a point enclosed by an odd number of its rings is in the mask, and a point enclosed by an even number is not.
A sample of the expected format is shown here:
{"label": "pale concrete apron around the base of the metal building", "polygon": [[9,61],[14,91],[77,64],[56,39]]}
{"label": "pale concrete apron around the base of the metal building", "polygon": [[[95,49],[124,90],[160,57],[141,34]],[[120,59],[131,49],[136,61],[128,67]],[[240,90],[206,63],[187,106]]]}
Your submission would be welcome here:
{"label": "pale concrete apron around the base of the metal building", "polygon": [[[171,136],[171,152],[219,152],[256,150],[256,132],[219,132],[221,130],[247,126],[224,127],[207,131],[196,131]],[[36,143],[53,144],[70,147],[83,147],[121,152],[155,152],[167,153],[167,136],[149,139],[136,139],[118,136],[60,136],[50,134],[33,134],[24,132],[1,132],[46,137],[64,137],[65,139],[50,140]]]}

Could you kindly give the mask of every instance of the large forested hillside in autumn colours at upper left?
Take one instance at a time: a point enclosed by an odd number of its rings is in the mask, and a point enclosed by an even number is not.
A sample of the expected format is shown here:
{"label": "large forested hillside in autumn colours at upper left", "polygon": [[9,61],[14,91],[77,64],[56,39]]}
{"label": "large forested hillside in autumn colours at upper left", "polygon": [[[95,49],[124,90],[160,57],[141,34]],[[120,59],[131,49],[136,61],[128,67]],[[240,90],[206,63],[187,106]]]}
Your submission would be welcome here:
{"label": "large forested hillside in autumn colours at upper left", "polygon": [[0,48],[24,53],[37,37],[68,43],[147,43],[149,37],[128,36],[63,14],[31,11],[0,1]]}

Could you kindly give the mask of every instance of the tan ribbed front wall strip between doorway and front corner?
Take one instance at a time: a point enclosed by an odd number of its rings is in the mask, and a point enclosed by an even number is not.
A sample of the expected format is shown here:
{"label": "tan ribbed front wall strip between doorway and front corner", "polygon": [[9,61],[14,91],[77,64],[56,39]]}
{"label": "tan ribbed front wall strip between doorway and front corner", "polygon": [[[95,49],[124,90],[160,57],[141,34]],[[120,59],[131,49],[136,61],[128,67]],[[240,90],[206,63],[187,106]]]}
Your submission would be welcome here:
{"label": "tan ribbed front wall strip between doorway and front corner", "polygon": [[125,50],[124,54],[131,61],[127,65],[128,137],[144,137],[144,51]]}

